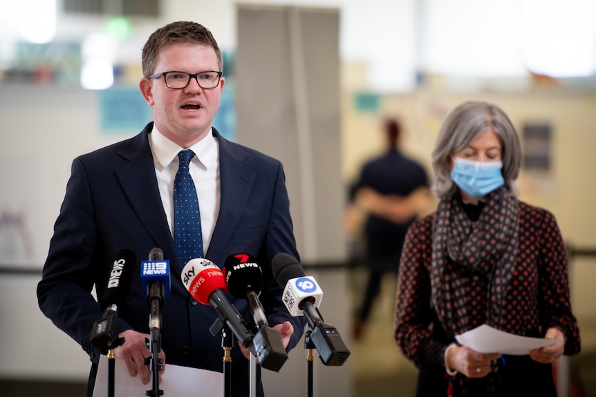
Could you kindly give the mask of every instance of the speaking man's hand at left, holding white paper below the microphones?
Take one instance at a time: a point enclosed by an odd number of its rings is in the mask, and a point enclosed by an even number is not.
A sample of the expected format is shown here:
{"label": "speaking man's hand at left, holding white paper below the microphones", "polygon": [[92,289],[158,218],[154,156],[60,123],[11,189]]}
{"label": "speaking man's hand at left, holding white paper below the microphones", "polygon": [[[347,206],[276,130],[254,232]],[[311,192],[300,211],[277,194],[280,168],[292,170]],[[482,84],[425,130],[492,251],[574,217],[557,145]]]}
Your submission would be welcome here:
{"label": "speaking man's hand at left, holding white paper below the microphones", "polygon": [[[143,385],[147,385],[151,379],[151,370],[149,366],[145,365],[145,358],[151,357],[151,351],[145,343],[145,339],[149,339],[148,333],[140,333],[127,329],[120,333],[120,338],[124,338],[124,344],[114,349],[116,358],[120,358],[124,362],[124,367],[127,367],[130,376],[140,375]],[[162,365],[161,374],[165,371],[165,353],[161,350],[158,354],[158,358],[164,363]]]}

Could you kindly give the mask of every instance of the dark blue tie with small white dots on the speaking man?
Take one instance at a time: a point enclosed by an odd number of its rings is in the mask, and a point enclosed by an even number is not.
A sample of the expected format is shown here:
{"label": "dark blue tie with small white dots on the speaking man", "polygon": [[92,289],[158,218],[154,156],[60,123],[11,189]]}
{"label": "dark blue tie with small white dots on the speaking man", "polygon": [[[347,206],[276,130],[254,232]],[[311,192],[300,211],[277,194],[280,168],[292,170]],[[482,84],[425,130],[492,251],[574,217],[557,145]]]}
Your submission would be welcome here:
{"label": "dark blue tie with small white dots on the speaking man", "polygon": [[183,266],[193,258],[203,258],[201,213],[196,188],[188,166],[194,157],[191,150],[180,151],[180,166],[174,178],[174,241]]}

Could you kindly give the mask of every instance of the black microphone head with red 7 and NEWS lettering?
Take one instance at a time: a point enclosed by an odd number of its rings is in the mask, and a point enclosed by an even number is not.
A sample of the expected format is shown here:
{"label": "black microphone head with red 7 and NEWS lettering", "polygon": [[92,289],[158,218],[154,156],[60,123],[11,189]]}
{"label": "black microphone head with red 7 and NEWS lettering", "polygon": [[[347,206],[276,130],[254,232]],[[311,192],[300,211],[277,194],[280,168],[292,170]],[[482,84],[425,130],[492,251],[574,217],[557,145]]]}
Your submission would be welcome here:
{"label": "black microphone head with red 7 and NEWS lettering", "polygon": [[237,253],[226,258],[223,266],[227,290],[234,298],[246,299],[248,291],[261,293],[263,272],[251,255]]}

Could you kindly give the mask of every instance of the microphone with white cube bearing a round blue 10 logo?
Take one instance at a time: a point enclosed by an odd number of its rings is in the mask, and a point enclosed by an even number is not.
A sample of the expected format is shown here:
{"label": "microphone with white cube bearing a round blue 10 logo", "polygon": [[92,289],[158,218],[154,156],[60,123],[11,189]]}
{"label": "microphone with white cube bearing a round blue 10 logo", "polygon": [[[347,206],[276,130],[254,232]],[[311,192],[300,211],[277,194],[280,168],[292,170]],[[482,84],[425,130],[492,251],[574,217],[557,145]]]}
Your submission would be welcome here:
{"label": "microphone with white cube bearing a round blue 10 logo", "polygon": [[[313,342],[324,365],[343,365],[350,356],[339,331],[324,322],[319,312],[323,291],[315,278],[304,275],[304,269],[287,253],[278,253],[271,261],[273,275],[280,287],[284,287],[282,300],[294,317],[306,316]],[[307,333],[308,335],[308,333]]]}

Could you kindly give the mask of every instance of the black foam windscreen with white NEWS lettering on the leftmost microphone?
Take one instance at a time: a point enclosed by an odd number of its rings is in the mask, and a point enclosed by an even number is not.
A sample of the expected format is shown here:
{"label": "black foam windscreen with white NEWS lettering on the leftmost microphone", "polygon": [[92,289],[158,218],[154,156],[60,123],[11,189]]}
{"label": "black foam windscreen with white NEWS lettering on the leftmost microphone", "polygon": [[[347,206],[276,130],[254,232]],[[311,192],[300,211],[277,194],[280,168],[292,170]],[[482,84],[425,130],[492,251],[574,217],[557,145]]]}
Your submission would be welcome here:
{"label": "black foam windscreen with white NEWS lettering on the leftmost microphone", "polygon": [[100,307],[102,311],[111,304],[123,305],[136,267],[136,255],[129,249],[121,249],[116,253],[111,264],[106,289],[102,296]]}

